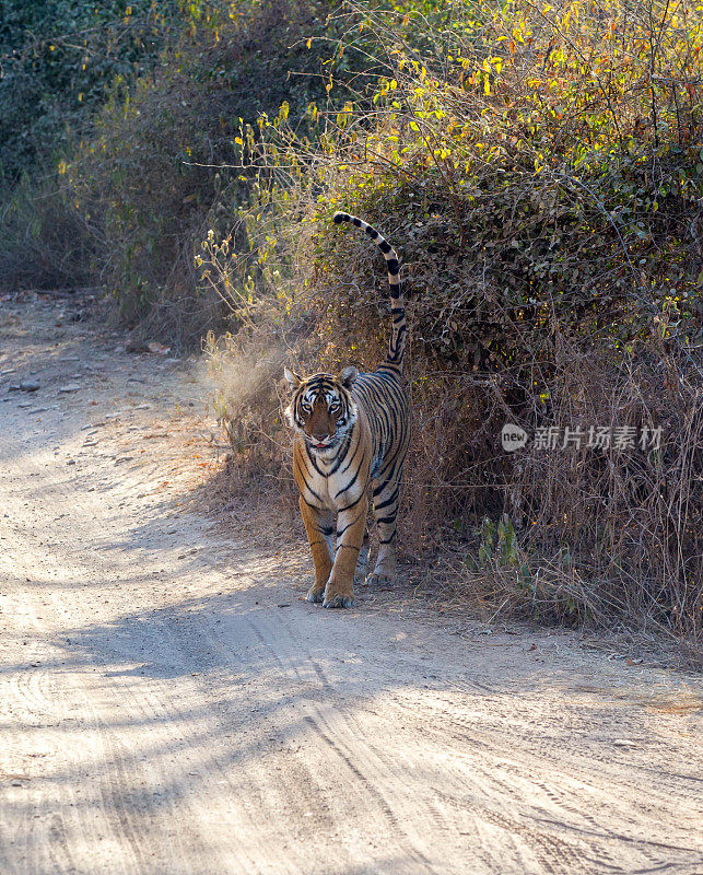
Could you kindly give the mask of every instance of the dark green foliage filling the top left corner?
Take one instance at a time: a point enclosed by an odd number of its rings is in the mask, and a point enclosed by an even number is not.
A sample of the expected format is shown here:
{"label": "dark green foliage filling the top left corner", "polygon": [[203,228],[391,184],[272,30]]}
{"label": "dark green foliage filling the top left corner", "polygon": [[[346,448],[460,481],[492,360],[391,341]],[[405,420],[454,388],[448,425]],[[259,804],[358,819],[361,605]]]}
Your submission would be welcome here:
{"label": "dark green foliage filling the top left corner", "polygon": [[[152,71],[184,18],[177,0],[4,0],[0,22],[0,176],[70,149],[119,81]],[[57,159],[58,160],[58,159]]]}

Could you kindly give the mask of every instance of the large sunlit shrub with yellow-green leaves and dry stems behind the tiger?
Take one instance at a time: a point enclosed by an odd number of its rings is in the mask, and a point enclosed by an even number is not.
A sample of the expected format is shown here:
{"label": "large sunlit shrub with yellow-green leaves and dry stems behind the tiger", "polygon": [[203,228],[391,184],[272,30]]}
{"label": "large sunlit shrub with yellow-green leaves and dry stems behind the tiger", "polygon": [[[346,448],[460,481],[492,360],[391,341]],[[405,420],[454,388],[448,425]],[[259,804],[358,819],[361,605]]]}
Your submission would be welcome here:
{"label": "large sunlit shrub with yellow-green leaves and dry stems behind the tiger", "polygon": [[[383,262],[330,218],[341,207],[376,224],[402,253],[409,296],[406,552],[452,542],[467,597],[480,588],[492,611],[654,622],[695,641],[698,18],[658,0],[516,0],[481,21],[461,9],[452,33],[424,32],[432,51],[370,14],[364,26],[394,46],[372,94],[311,113],[305,129],[283,112],[262,119],[248,158],[271,196],[249,236],[276,228],[257,252],[286,266],[277,318],[311,319],[308,373],[375,368],[389,330]],[[508,454],[506,422],[532,438],[660,428],[661,444],[531,440]]]}

